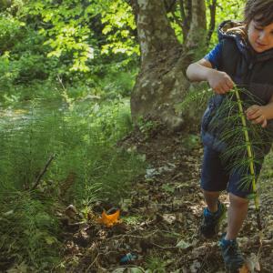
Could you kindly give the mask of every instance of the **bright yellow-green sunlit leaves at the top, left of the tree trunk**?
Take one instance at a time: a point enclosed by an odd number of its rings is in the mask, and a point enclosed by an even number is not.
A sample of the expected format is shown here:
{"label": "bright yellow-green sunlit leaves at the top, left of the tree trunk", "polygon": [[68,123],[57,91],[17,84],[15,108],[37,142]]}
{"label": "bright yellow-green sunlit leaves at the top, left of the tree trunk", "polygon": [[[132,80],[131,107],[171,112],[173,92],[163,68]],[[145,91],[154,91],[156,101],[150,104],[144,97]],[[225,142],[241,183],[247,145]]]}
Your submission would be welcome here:
{"label": "bright yellow-green sunlit leaves at the top, left of the tree trunk", "polygon": [[[25,15],[41,17],[39,34],[51,48],[48,57],[70,56],[71,71],[89,71],[90,61],[100,54],[139,55],[134,16],[130,5],[118,1],[29,1]],[[90,20],[102,25],[104,41],[98,41]],[[97,30],[96,30],[97,31]],[[71,59],[71,56],[73,59]]]}

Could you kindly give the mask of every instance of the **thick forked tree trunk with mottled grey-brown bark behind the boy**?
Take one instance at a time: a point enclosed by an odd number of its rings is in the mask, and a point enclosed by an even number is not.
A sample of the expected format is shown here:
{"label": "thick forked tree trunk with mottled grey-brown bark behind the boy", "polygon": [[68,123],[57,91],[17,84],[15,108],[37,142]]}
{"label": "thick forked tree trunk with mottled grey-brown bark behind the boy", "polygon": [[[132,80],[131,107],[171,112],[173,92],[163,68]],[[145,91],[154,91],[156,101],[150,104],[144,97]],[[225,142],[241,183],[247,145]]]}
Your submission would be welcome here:
{"label": "thick forked tree trunk with mottled grey-brown bark behind the boy", "polygon": [[[192,11],[197,15],[191,15],[187,45],[197,44],[194,28],[200,25],[204,28],[204,22],[206,25],[206,19],[201,19],[204,0],[192,1]],[[133,120],[137,123],[139,117],[151,118],[164,122],[172,130],[181,129],[187,113],[181,113],[177,106],[187,93],[189,82],[185,70],[191,59],[177,41],[163,0],[131,0],[131,5],[136,14],[141,51],[140,72],[131,96]]]}

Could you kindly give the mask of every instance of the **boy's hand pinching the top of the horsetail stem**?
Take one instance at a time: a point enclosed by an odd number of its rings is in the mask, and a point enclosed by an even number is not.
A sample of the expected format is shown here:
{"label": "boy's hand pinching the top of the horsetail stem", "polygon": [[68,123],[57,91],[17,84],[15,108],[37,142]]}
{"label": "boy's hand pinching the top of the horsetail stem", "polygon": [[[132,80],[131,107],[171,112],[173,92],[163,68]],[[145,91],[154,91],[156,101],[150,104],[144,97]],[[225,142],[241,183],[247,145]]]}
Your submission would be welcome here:
{"label": "boy's hand pinching the top of the horsetail stem", "polygon": [[217,71],[215,69],[209,70],[207,82],[217,94],[225,94],[234,86],[232,79],[226,72]]}

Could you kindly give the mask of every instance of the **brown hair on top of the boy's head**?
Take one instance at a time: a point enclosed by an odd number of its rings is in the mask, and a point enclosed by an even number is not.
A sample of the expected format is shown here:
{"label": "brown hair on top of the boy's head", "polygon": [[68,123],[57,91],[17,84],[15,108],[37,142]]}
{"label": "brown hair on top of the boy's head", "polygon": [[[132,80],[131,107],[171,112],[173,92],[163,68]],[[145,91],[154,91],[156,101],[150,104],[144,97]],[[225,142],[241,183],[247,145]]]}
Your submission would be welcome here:
{"label": "brown hair on top of the boy's head", "polygon": [[273,0],[248,0],[244,22],[249,24],[253,19],[262,26],[273,23]]}

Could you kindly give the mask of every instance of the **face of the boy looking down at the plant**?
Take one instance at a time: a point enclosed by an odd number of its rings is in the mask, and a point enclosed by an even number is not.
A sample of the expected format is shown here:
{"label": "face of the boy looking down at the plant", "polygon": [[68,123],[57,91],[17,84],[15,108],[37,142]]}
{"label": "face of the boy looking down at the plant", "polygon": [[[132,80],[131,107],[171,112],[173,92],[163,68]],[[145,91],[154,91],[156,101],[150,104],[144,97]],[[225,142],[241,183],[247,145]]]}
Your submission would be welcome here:
{"label": "face of the boy looking down at the plant", "polygon": [[258,53],[273,48],[273,23],[261,26],[257,21],[251,20],[248,25],[248,41]]}

